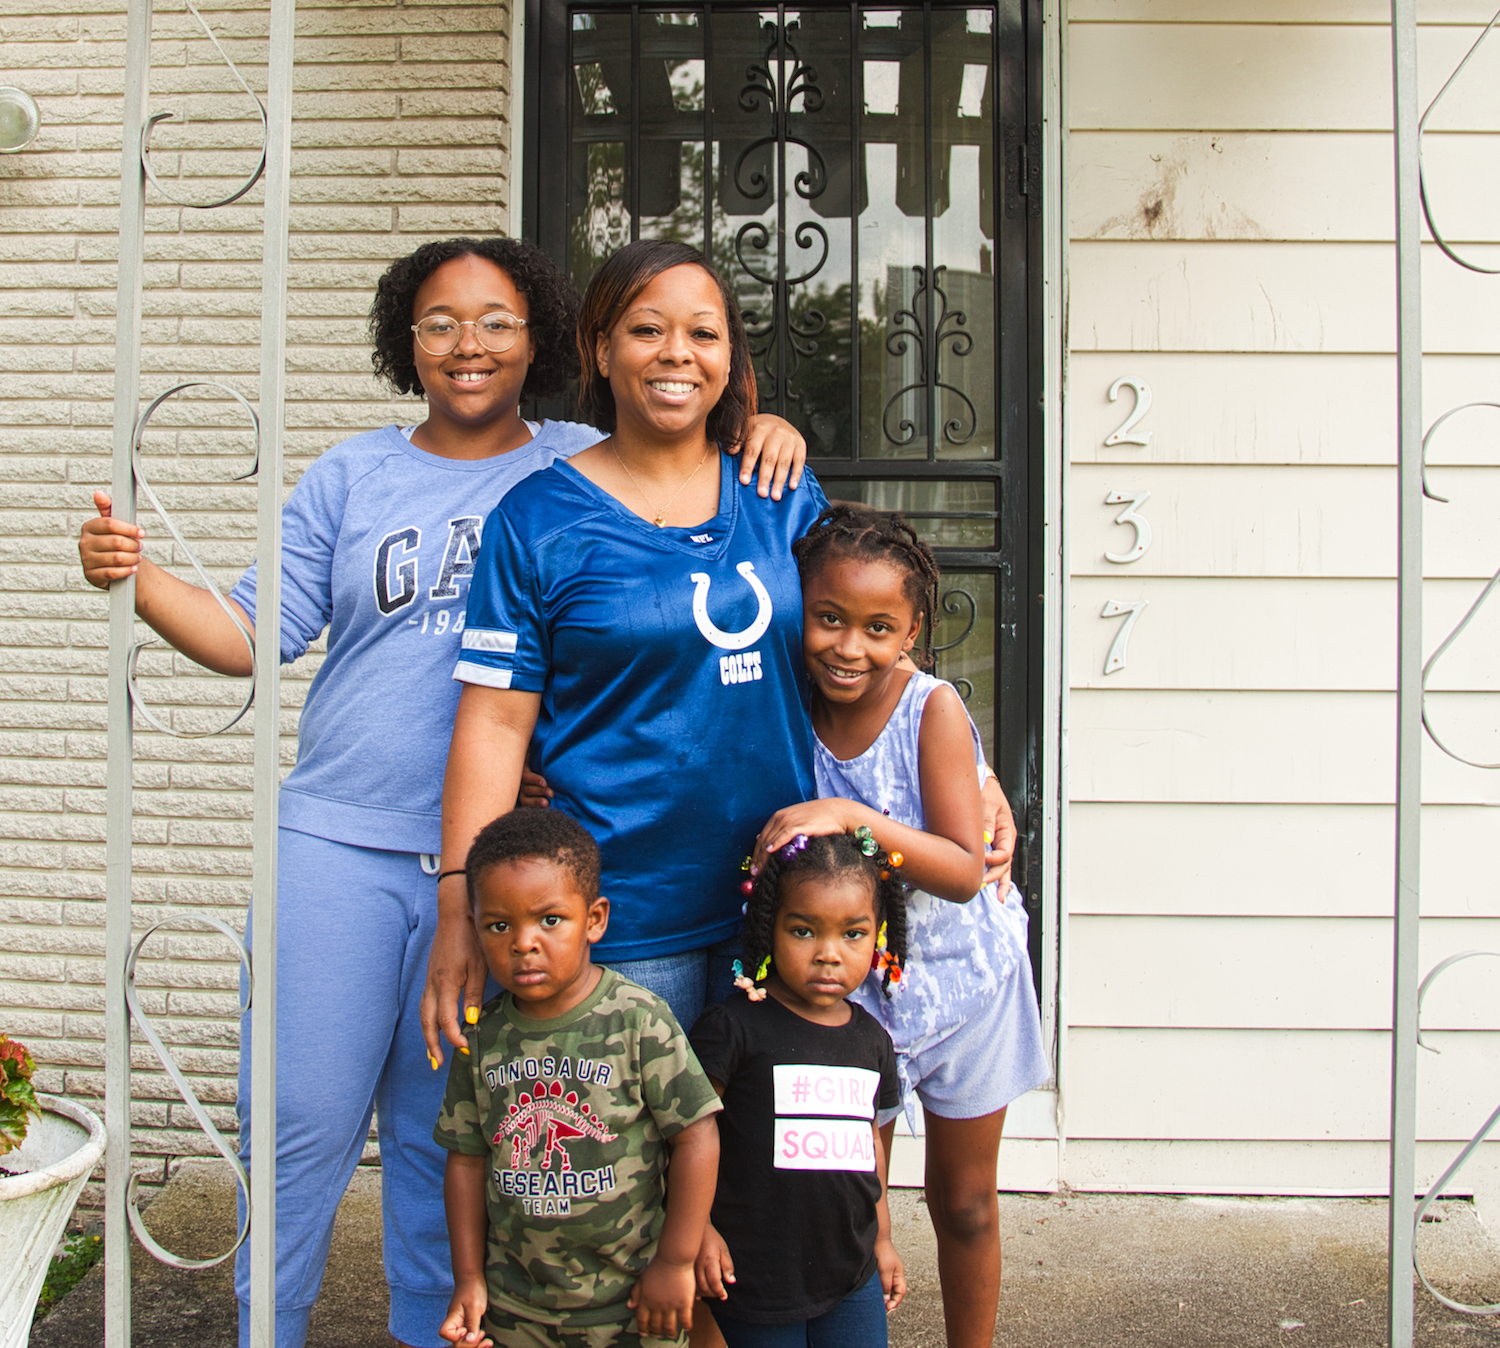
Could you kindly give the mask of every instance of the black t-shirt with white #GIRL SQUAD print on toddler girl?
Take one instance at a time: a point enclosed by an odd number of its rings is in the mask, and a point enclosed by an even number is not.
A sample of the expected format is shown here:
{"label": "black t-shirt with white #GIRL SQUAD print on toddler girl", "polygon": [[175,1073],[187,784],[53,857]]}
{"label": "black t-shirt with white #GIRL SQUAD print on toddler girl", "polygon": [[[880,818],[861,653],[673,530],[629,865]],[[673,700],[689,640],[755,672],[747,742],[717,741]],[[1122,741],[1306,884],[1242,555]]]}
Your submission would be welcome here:
{"label": "black t-shirt with white #GIRL SQUAD print on toddler girl", "polygon": [[872,1126],[878,1108],[900,1102],[900,1084],[890,1036],[849,1009],[848,1024],[819,1026],[774,997],[735,993],[688,1035],[724,1086],[712,1221],[735,1266],[732,1318],[812,1320],[874,1272]]}

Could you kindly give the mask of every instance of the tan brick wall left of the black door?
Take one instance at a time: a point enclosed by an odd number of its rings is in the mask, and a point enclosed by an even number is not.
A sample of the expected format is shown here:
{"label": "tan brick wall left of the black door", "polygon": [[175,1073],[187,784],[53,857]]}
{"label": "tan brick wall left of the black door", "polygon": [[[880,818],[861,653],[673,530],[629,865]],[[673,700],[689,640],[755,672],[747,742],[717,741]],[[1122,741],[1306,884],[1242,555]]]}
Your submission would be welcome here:
{"label": "tan brick wall left of the black door", "polygon": [[[104,753],[106,600],[76,565],[90,493],[108,486],[114,396],[123,0],[16,0],[0,16],[0,84],[32,93],[44,129],[0,156],[0,1030],[27,1041],[45,1090],[104,1093]],[[160,12],[166,9],[166,12]],[[266,84],[264,3],[207,10],[234,61]],[[288,484],[344,436],[396,418],[369,373],[363,318],[384,265],[424,238],[508,220],[510,18],[496,3],[304,4],[297,15],[286,406]],[[159,6],[153,162],[171,190],[212,199],[252,166],[258,124],[190,15]],[[220,379],[255,402],[261,190],[188,210],[148,190],[142,394]],[[254,552],[243,414],[170,403],[148,474],[225,585]],[[148,550],[177,564],[142,514]],[[288,670],[284,762],[314,652]],[[206,729],[242,685],[153,648],[150,696]],[[212,912],[242,927],[249,897],[248,721],[207,741],[138,729],[135,918]],[[153,937],[147,1009],[224,1129],[234,1125],[237,973],[218,937]],[[204,1138],[144,1041],[135,1047],[136,1165]]]}

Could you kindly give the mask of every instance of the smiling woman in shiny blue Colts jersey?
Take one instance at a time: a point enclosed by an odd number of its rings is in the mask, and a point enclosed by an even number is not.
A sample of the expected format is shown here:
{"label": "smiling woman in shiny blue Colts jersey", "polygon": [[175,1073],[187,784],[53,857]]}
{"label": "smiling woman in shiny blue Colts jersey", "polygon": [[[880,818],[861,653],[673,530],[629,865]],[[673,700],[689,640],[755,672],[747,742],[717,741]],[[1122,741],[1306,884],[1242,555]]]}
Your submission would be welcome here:
{"label": "smiling woman in shiny blue Colts jersey", "polygon": [[[741,858],[784,798],[813,795],[792,540],[824,507],[810,477],[780,504],[736,480],[754,411],[734,297],[696,249],[621,249],[579,315],[582,400],[609,439],[532,475],[484,523],[442,796],[428,1047],[462,1045],[484,963],[462,874],[522,768],[603,853],[597,957],[690,1026],[710,952],[740,928]],[[789,796],[786,793],[790,793]],[[717,1000],[717,997],[714,997]]]}

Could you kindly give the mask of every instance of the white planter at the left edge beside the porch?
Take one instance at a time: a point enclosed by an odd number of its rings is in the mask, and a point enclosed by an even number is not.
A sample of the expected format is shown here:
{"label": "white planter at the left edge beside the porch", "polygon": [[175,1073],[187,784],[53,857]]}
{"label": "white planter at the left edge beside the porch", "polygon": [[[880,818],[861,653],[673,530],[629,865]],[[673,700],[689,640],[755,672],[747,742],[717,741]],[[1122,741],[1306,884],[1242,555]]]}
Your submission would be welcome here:
{"label": "white planter at the left edge beside the porch", "polygon": [[104,1123],[56,1095],[38,1095],[42,1117],[0,1171],[0,1348],[24,1348],[46,1266],[78,1194],[104,1155]]}

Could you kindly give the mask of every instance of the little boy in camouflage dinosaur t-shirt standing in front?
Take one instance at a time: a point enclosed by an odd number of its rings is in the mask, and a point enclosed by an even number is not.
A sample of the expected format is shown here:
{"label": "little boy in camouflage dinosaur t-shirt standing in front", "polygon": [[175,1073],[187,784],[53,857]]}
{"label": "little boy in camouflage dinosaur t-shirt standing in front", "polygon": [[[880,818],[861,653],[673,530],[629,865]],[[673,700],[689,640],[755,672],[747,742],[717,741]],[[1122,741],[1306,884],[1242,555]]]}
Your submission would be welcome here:
{"label": "little boy in camouflage dinosaur t-shirt standing in front", "polygon": [[434,1129],[454,1282],[440,1333],[462,1348],[681,1344],[718,1096],[666,1003],[591,961],[609,900],[580,825],[504,814],[466,874],[507,991],[468,1027]]}

